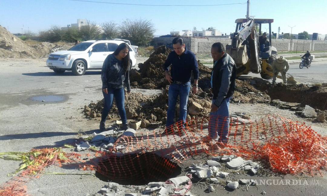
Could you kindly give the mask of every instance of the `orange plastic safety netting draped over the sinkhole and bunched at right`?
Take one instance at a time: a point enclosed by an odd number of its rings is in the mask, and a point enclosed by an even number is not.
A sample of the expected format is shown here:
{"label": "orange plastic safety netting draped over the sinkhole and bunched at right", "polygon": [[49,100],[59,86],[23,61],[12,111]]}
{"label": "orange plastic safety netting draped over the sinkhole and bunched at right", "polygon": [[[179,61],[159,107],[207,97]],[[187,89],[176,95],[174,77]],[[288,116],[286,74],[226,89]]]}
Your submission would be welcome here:
{"label": "orange plastic safety netting draped over the sinkhole and bunched at right", "polygon": [[[222,139],[227,135],[228,144],[208,138],[213,132]],[[211,116],[178,122],[162,133],[120,137],[91,164],[115,182],[142,184],[166,180],[185,160],[231,154],[265,161],[274,172],[313,175],[326,169],[327,137],[279,116],[257,121]]]}

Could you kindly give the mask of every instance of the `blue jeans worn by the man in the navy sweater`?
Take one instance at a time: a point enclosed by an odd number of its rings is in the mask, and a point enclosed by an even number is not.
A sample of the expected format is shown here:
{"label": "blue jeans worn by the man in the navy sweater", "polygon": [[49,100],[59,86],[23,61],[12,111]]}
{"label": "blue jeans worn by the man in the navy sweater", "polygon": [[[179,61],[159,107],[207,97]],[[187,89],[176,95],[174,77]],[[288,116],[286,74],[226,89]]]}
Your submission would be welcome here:
{"label": "blue jeans worn by the man in the navy sweater", "polygon": [[186,122],[187,114],[187,101],[188,94],[190,92],[191,82],[185,84],[171,84],[169,85],[168,91],[168,110],[167,110],[167,122],[166,127],[174,124],[175,108],[177,103],[177,98],[180,96],[180,118]]}

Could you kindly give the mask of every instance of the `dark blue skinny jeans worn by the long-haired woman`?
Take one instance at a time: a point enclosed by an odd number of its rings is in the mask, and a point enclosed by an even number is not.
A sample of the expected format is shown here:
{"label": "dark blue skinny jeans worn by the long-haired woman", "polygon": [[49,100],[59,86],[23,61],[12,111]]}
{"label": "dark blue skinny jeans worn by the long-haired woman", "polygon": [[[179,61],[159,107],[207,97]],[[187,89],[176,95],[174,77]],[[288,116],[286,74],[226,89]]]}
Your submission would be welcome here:
{"label": "dark blue skinny jeans worn by the long-haired woman", "polygon": [[104,106],[101,115],[101,122],[106,122],[107,116],[112,108],[113,97],[115,97],[118,112],[123,124],[127,123],[126,110],[125,110],[125,90],[124,88],[114,89],[108,88],[108,94],[103,93]]}

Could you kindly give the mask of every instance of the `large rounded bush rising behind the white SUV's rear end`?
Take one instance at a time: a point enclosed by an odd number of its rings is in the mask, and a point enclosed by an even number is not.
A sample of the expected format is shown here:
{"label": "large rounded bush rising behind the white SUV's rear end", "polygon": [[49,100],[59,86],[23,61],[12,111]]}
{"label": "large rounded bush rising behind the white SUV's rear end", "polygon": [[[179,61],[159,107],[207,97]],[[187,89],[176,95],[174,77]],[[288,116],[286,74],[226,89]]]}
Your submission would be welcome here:
{"label": "large rounded bush rising behind the white SUV's rear end", "polygon": [[156,31],[151,20],[138,19],[129,20],[126,19],[119,26],[120,35],[123,39],[129,40],[132,44],[138,46],[146,46],[153,39],[153,34]]}

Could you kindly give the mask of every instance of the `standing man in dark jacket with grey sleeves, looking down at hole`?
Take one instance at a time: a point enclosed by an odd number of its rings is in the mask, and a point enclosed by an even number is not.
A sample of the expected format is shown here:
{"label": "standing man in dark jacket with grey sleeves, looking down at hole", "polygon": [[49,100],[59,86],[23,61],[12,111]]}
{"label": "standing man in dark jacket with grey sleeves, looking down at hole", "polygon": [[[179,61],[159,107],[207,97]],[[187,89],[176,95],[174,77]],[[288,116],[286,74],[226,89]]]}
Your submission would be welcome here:
{"label": "standing man in dark jacket with grey sleeves, looking down at hole", "polygon": [[209,138],[222,143],[228,142],[229,101],[236,88],[236,65],[231,56],[225,52],[222,43],[216,42],[211,47],[215,61],[211,75],[213,100],[210,111]]}

